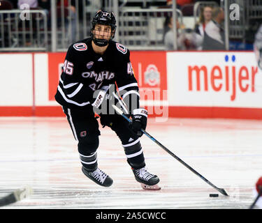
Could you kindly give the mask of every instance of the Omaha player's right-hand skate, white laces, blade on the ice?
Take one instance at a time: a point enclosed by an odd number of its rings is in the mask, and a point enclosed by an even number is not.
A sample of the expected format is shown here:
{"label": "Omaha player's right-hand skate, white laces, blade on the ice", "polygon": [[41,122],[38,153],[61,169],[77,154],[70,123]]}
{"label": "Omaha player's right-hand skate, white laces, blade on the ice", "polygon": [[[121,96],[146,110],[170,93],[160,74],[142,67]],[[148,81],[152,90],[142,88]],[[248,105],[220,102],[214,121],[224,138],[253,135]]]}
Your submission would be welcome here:
{"label": "Omaha player's right-hand skate, white laces, blade on the ice", "polygon": [[141,169],[133,169],[133,175],[135,175],[136,180],[141,184],[141,187],[144,190],[160,190],[161,187],[157,183],[159,183],[159,177],[150,174],[150,172],[145,169],[145,167]]}

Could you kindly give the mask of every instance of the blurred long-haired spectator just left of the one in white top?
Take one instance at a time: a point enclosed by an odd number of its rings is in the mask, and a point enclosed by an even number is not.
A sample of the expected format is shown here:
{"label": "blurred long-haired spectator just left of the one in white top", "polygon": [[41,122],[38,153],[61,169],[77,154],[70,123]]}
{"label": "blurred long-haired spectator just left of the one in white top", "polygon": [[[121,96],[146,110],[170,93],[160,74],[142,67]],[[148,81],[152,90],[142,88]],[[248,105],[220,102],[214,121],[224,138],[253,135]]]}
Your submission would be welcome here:
{"label": "blurred long-haired spectator just left of the one in white top", "polygon": [[212,7],[205,6],[201,8],[198,23],[195,26],[196,33],[196,49],[201,50],[203,47],[205,26],[212,20]]}

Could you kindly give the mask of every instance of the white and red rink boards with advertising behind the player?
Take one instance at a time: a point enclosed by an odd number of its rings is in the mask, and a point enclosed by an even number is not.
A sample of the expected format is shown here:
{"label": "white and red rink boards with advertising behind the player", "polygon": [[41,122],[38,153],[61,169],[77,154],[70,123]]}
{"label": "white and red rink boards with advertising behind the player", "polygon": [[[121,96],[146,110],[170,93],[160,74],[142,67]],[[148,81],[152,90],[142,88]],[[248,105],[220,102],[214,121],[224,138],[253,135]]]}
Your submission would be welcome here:
{"label": "white and red rink boards with advertising behind the player", "polygon": [[[65,56],[0,54],[0,116],[63,116],[54,94]],[[151,116],[262,119],[254,52],[134,51],[131,62]]]}

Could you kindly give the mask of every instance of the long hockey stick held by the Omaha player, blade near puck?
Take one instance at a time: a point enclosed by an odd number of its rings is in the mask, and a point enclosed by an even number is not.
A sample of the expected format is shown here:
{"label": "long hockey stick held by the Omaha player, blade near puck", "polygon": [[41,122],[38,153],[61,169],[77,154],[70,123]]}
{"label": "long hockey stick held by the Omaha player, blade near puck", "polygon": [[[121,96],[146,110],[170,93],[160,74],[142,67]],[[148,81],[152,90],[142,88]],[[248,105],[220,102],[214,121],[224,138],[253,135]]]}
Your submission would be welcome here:
{"label": "long hockey stick held by the Omaha player, blade near puck", "polygon": [[[116,97],[116,95],[115,95]],[[124,112],[122,112],[121,109],[119,109],[117,106],[112,105],[112,107],[115,109],[115,111],[120,114],[121,116],[123,116],[127,121],[129,121],[129,123],[131,122],[131,120],[126,117],[124,115]],[[194,174],[196,174],[197,176],[199,176],[202,180],[204,180],[206,183],[208,183],[210,186],[214,187],[214,189],[218,190],[221,194],[228,196],[228,194],[226,193],[226,191],[223,188],[219,188],[216,187],[215,185],[213,185],[209,180],[207,180],[206,178],[204,178],[201,174],[199,174],[197,171],[195,171],[192,167],[190,167],[187,163],[185,163],[183,160],[180,159],[180,157],[177,157],[174,153],[172,153],[170,150],[168,150],[168,148],[166,148],[166,146],[163,146],[159,141],[157,141],[157,139],[154,139],[154,137],[152,137],[152,135],[150,135],[148,132],[146,132],[145,130],[141,129],[141,131],[150,139],[152,139],[152,141],[154,141],[157,145],[159,145],[161,148],[163,148],[163,150],[165,150],[166,152],[168,152],[170,155],[172,155],[176,160],[178,160],[179,162],[181,162],[185,167],[187,167],[189,170],[191,170]]]}

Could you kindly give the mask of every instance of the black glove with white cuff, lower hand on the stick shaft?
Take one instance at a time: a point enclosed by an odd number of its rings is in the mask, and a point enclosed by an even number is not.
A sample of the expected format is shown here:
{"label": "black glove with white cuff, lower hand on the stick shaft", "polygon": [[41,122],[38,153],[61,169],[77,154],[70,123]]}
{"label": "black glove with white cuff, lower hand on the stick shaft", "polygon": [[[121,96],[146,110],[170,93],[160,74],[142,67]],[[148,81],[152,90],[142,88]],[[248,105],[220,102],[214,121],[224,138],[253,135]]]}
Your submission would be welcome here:
{"label": "black glove with white cuff, lower hand on the stick shaft", "polygon": [[131,117],[132,122],[129,123],[129,128],[131,128],[138,137],[142,137],[143,132],[141,131],[141,128],[145,130],[147,127],[147,110],[142,108],[134,109]]}

